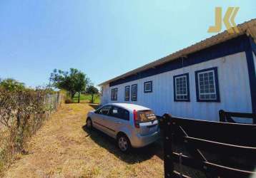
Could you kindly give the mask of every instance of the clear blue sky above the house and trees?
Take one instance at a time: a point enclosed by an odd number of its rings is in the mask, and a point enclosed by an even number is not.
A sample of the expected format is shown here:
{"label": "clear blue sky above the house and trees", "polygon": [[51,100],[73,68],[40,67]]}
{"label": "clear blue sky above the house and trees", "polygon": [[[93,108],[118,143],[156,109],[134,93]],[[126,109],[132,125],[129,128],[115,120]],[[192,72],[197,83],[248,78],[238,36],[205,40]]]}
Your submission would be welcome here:
{"label": "clear blue sky above the house and trees", "polygon": [[215,35],[215,6],[256,18],[255,0],[0,1],[0,78],[34,87],[78,68],[97,85]]}

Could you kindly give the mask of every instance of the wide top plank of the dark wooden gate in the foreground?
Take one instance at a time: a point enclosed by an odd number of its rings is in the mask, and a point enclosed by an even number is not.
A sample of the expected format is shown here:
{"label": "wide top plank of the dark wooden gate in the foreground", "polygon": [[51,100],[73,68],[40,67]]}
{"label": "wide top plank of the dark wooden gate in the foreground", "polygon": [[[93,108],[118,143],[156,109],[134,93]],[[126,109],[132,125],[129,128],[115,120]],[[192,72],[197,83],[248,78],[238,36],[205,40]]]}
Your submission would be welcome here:
{"label": "wide top plank of the dark wooden gate in the foreground", "polygon": [[170,118],[172,132],[182,135],[181,128],[189,137],[224,142],[231,145],[253,147],[256,145],[256,125]]}

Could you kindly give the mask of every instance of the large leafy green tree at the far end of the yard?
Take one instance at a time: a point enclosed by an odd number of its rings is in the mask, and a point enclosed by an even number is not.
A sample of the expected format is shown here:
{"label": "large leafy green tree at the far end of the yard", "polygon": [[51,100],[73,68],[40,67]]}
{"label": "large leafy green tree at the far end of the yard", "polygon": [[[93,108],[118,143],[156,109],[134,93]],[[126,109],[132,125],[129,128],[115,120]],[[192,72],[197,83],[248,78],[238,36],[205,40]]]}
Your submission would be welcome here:
{"label": "large leafy green tree at the far end of the yard", "polygon": [[79,103],[80,93],[85,90],[89,83],[89,78],[76,68],[70,68],[69,71],[54,69],[54,72],[51,73],[50,81],[53,82],[52,85],[54,87],[67,90],[72,99],[76,93],[79,93]]}

